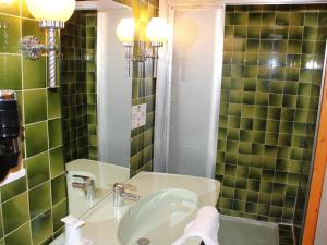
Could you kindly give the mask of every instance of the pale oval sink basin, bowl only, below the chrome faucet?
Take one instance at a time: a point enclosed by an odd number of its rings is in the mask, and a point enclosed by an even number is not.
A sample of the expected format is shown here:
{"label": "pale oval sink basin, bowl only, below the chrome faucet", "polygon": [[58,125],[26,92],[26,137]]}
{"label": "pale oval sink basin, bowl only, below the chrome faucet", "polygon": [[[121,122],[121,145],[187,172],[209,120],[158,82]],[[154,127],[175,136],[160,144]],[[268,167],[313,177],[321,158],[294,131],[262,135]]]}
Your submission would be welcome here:
{"label": "pale oval sink basin, bowl only, below the chrome faucet", "polygon": [[199,195],[187,189],[154,193],[125,212],[118,228],[118,240],[121,245],[137,244],[142,237],[148,238],[150,244],[171,244],[183,234],[201,207]]}

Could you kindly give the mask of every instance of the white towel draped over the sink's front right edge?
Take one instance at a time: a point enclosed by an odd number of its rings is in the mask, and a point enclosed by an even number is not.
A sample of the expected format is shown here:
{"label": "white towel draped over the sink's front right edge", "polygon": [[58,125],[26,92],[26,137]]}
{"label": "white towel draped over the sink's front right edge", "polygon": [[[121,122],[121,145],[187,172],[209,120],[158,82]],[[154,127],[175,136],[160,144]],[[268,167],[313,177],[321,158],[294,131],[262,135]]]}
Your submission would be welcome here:
{"label": "white towel draped over the sink's front right edge", "polygon": [[216,208],[201,208],[193,221],[185,228],[184,234],[172,245],[181,245],[190,237],[201,237],[205,245],[218,244],[219,213]]}

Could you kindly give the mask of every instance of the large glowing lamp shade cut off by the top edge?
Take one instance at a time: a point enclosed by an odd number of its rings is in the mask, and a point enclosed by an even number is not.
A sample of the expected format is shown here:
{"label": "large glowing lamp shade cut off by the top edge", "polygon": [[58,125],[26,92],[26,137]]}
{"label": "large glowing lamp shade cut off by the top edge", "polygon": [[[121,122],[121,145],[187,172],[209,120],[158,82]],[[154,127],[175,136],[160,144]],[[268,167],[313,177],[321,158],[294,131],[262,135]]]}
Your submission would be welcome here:
{"label": "large glowing lamp shade cut off by the top edge", "polygon": [[26,4],[37,21],[66,22],[75,10],[75,0],[26,0]]}

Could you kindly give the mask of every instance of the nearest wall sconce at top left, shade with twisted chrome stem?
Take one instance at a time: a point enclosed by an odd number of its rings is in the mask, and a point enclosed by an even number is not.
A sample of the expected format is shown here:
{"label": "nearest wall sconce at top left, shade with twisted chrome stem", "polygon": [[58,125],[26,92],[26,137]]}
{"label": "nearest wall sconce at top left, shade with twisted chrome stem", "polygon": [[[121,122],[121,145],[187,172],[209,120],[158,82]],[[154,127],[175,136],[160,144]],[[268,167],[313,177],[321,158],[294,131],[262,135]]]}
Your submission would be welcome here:
{"label": "nearest wall sconce at top left, shade with twisted chrome stem", "polygon": [[75,0],[26,0],[31,14],[39,21],[39,27],[47,29],[47,45],[41,45],[35,36],[26,36],[22,40],[23,56],[31,60],[41,57],[44,50],[48,51],[48,83],[56,88],[56,29],[64,28],[64,23],[75,10]]}

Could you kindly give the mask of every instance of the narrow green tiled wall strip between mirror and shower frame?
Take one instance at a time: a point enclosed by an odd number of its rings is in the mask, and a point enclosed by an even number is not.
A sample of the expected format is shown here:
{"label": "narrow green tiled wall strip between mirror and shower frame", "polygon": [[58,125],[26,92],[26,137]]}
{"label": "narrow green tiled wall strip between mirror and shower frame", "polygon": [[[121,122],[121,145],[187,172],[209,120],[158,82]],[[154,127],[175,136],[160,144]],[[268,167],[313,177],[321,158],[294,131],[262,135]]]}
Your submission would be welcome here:
{"label": "narrow green tiled wall strip between mirror and shower frame", "polygon": [[[148,20],[157,16],[158,2],[137,1],[133,5],[134,17],[138,20],[140,29],[145,28]],[[136,34],[136,40],[144,40],[144,36]],[[137,53],[137,41],[134,52]],[[146,125],[131,132],[131,176],[140,171],[153,171],[156,79],[153,78],[153,62],[136,63],[133,68],[132,105],[146,103]]]}

